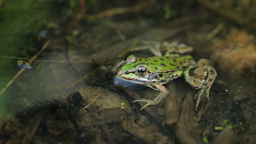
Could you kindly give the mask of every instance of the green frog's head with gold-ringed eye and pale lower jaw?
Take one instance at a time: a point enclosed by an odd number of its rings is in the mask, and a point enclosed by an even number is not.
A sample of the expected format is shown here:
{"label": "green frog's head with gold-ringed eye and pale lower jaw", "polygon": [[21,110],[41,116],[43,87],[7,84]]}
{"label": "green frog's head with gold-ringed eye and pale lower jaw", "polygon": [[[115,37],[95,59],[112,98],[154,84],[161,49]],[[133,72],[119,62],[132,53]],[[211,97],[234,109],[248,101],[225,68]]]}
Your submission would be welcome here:
{"label": "green frog's head with gold-ringed eye and pale lower jaw", "polygon": [[138,84],[157,82],[157,74],[150,72],[148,67],[143,62],[138,62],[134,55],[124,59],[124,64],[118,69],[116,76]]}

